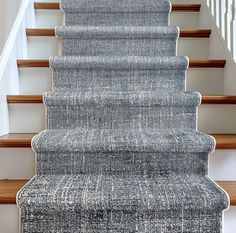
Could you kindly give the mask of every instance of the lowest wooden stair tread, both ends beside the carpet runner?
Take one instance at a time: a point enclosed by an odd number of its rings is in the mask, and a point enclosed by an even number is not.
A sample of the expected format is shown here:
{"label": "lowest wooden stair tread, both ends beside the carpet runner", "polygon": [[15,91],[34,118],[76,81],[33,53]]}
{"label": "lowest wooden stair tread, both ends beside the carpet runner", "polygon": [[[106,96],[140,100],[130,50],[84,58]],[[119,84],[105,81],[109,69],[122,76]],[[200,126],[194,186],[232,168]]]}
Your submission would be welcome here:
{"label": "lowest wooden stair tread, both ends beside the carpet runner", "polygon": [[[17,192],[27,183],[27,180],[0,180],[0,203],[15,204]],[[230,204],[236,205],[236,181],[218,181],[230,196]]]}

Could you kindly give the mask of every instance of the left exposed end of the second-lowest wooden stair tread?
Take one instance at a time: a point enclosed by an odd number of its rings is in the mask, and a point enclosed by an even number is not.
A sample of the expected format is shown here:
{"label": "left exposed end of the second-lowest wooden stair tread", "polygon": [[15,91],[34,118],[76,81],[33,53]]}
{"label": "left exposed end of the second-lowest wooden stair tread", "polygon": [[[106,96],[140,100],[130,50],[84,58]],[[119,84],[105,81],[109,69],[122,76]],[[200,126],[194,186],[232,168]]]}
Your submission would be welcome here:
{"label": "left exposed end of the second-lowest wooden stair tread", "polygon": [[31,147],[33,133],[10,133],[0,136],[0,148],[28,148]]}

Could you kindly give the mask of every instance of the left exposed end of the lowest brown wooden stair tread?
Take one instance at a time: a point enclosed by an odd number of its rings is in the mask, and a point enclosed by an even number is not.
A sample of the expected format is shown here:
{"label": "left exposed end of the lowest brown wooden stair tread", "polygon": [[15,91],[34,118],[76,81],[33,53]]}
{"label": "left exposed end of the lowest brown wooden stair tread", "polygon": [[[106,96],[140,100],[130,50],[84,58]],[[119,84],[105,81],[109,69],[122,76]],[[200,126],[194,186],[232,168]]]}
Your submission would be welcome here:
{"label": "left exposed end of the lowest brown wooden stair tread", "polygon": [[0,204],[16,204],[17,192],[28,180],[0,180]]}

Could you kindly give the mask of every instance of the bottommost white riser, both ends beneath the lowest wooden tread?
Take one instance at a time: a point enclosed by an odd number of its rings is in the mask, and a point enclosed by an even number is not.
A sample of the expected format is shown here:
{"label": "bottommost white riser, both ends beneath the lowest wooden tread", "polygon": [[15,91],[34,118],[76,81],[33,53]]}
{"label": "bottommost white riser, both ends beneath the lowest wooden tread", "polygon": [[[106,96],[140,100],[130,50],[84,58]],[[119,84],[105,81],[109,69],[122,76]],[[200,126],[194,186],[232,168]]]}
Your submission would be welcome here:
{"label": "bottommost white riser, both ends beneath the lowest wooden tread", "polygon": [[[0,205],[0,233],[19,233],[19,210],[16,205]],[[225,211],[223,219],[224,233],[235,233],[236,207]]]}

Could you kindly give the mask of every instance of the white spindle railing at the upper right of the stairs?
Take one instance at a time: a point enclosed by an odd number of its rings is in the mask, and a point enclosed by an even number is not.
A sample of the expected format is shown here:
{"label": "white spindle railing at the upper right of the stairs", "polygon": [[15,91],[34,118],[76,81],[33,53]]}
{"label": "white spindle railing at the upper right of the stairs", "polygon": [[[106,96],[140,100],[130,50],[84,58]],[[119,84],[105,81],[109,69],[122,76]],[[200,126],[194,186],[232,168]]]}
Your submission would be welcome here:
{"label": "white spindle railing at the upper right of the stairs", "polygon": [[236,60],[236,0],[206,0],[216,25]]}

